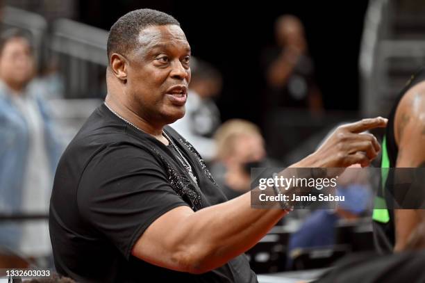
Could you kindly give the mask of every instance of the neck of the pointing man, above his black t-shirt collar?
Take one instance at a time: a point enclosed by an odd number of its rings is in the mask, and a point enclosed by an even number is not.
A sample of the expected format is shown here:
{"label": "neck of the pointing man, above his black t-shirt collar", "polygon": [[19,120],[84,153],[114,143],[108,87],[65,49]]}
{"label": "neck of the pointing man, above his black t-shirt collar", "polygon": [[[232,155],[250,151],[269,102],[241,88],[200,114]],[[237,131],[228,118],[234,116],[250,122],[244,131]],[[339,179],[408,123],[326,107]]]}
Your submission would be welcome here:
{"label": "neck of the pointing man, above his black t-shirt collar", "polygon": [[122,102],[119,102],[113,95],[106,95],[105,99],[106,104],[111,108],[115,113],[120,115],[122,118],[131,122],[136,127],[144,131],[145,133],[153,136],[161,143],[168,145],[168,140],[163,136],[163,129],[165,125],[152,124],[141,118],[137,113],[132,111]]}

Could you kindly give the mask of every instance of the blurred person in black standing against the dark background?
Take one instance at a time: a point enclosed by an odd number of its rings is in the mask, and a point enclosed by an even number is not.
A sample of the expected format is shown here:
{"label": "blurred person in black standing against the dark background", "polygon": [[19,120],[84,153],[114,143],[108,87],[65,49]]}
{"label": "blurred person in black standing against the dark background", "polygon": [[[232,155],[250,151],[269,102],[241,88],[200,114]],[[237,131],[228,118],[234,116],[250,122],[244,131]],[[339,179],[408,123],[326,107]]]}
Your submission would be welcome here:
{"label": "blurred person in black standing against the dark background", "polygon": [[301,21],[282,15],[275,23],[276,47],[263,54],[268,107],[322,109],[322,95],[314,81],[313,60]]}

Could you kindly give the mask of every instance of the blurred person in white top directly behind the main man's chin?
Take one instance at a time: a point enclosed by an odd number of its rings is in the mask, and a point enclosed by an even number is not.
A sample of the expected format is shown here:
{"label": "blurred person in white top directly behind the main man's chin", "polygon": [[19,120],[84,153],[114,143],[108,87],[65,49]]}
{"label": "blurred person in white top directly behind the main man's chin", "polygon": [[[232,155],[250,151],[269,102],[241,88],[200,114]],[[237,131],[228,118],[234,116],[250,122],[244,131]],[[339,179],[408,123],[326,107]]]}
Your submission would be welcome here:
{"label": "blurred person in white top directly behind the main man's chin", "polygon": [[202,60],[191,63],[186,113],[171,126],[197,149],[205,161],[215,156],[213,134],[220,124],[220,113],[213,101],[222,90],[222,75],[212,65]]}

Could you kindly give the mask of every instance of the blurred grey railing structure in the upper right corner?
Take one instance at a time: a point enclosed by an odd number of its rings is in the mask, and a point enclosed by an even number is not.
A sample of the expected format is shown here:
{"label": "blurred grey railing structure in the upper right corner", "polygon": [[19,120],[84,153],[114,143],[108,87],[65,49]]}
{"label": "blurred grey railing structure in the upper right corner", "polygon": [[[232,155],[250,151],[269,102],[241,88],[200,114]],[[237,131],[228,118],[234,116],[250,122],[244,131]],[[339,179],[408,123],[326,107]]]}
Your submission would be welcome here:
{"label": "blurred grey railing structure in the upper right corner", "polygon": [[360,51],[362,115],[387,115],[425,64],[424,13],[423,1],[369,1]]}

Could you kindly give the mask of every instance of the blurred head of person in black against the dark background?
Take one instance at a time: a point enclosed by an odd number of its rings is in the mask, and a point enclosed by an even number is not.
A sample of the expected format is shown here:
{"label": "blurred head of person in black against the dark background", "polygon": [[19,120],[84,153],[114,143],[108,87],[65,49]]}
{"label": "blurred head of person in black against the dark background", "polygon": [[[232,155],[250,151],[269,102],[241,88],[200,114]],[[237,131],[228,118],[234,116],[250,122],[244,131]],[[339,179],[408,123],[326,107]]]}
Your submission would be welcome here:
{"label": "blurred head of person in black against the dark background", "polygon": [[306,45],[303,24],[294,15],[282,15],[276,19],[276,42],[281,47],[303,49]]}

